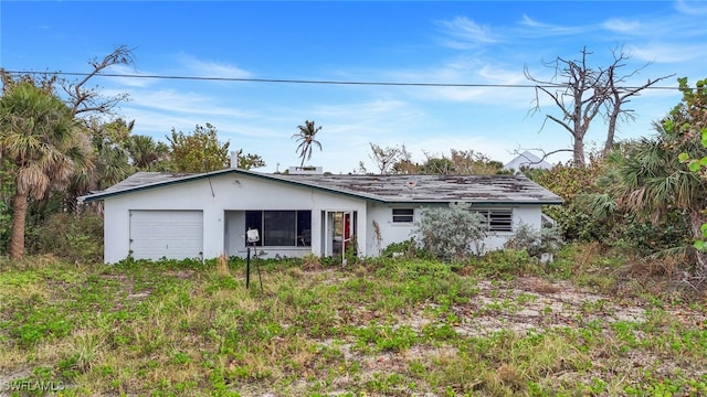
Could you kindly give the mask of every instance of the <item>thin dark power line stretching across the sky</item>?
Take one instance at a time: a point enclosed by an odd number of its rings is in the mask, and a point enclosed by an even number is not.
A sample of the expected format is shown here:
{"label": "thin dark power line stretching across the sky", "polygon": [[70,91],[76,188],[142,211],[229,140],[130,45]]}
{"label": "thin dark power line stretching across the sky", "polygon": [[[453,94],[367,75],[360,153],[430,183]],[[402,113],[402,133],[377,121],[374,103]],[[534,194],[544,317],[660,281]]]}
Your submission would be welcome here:
{"label": "thin dark power line stretching across the sky", "polygon": [[[57,75],[57,76],[81,76],[85,77],[89,73],[80,72],[28,72],[28,71],[4,71],[15,75]],[[320,79],[293,79],[293,78],[244,78],[244,77],[203,77],[203,76],[169,76],[169,75],[144,75],[144,74],[113,74],[97,73],[97,77],[125,77],[125,78],[154,78],[154,79],[179,79],[179,81],[209,81],[209,82],[240,82],[240,83],[276,83],[276,84],[319,84],[319,85],[359,85],[359,86],[399,86],[399,87],[465,87],[465,88],[566,88],[567,84],[538,85],[538,84],[466,84],[466,83],[394,83],[394,82],[345,82],[345,81],[320,81]],[[647,87],[622,87],[623,89],[678,89],[678,87],[647,86]]]}

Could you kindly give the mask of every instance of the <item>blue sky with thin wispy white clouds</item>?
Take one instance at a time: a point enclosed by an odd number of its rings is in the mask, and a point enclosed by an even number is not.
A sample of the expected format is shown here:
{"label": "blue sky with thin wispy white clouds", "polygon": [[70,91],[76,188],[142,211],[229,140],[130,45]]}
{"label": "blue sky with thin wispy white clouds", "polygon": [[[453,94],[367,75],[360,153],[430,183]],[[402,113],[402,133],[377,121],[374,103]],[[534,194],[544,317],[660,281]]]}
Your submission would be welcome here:
{"label": "blue sky with thin wispy white clouds", "polygon": [[[609,66],[612,50],[631,56],[629,82],[675,74],[694,85],[707,77],[705,1],[454,1],[454,2],[243,2],[243,1],[7,1],[0,2],[0,66],[9,71],[88,72],[87,62],[118,45],[133,47],[134,67],[115,74],[464,84],[474,87],[294,84],[101,77],[106,94],[128,93],[117,112],[135,119],[134,132],[166,141],[172,128],[215,126],[231,148],[264,158],[263,172],[298,165],[292,135],[305,120],[321,126],[307,163],[348,173],[370,160],[369,143],[404,144],[424,153],[474,150],[507,162],[513,152],[571,148],[570,135],[545,114],[530,115],[544,62],[592,55]],[[493,85],[493,86],[487,86]],[[633,98],[635,121],[619,138],[653,133],[680,99],[677,90],[645,90]],[[594,121],[588,150],[603,143]],[[552,162],[569,153],[551,157]]]}

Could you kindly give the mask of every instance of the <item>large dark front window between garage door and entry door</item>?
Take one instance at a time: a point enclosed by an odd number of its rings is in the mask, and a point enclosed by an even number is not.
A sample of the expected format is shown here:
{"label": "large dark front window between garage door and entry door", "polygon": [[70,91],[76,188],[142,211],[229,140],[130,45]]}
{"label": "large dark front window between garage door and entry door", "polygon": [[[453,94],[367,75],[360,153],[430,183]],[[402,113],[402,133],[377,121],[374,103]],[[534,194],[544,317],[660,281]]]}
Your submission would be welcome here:
{"label": "large dark front window between garage door and entry door", "polygon": [[246,211],[245,229],[251,228],[260,232],[257,246],[309,247],[312,211]]}

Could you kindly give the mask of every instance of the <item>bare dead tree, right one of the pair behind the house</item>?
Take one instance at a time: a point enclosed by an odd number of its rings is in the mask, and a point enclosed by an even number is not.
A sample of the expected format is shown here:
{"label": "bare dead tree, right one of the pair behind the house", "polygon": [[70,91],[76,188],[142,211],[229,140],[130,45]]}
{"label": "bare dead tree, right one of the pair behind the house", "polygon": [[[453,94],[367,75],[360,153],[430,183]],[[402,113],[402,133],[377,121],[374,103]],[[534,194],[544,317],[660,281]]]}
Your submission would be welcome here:
{"label": "bare dead tree, right one of the pair behind the house", "polygon": [[622,84],[626,83],[630,77],[633,77],[642,69],[646,68],[651,63],[646,63],[642,67],[626,74],[623,76],[616,75],[616,69],[625,66],[624,61],[629,60],[630,56],[623,52],[623,49],[614,49],[612,51],[614,62],[606,68],[605,71],[605,86],[608,90],[608,97],[605,101],[606,107],[606,120],[608,128],[606,131],[606,140],[604,141],[604,150],[603,154],[606,155],[609,151],[614,146],[614,137],[616,131],[616,125],[620,119],[624,120],[634,120],[635,116],[633,115],[633,110],[624,109],[624,105],[631,101],[631,97],[641,95],[640,93],[656,83],[664,81],[666,78],[675,76],[675,74],[658,77],[655,79],[647,81],[646,84],[643,84],[637,87],[622,87]]}

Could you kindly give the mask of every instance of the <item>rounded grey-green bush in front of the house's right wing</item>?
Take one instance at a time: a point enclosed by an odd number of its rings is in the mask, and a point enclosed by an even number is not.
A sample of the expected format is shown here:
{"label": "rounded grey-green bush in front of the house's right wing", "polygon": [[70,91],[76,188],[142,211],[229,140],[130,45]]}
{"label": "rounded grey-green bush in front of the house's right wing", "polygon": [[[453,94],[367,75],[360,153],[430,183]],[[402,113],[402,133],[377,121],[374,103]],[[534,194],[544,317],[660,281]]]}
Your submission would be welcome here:
{"label": "rounded grey-green bush in front of the house's right wing", "polygon": [[422,247],[441,260],[463,260],[478,254],[486,237],[484,217],[469,211],[468,204],[450,204],[449,208],[422,211],[416,235]]}

